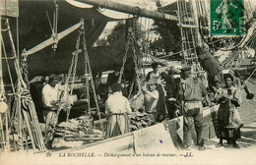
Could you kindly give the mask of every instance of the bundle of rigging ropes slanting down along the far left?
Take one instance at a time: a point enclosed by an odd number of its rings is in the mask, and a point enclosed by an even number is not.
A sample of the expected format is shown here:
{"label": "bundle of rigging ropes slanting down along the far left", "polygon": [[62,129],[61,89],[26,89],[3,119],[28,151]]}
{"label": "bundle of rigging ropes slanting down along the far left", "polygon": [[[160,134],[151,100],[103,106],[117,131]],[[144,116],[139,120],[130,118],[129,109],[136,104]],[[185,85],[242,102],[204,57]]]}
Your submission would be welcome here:
{"label": "bundle of rigging ropes slanting down along the far left", "polygon": [[[15,43],[13,40],[13,36],[12,36],[12,32],[11,32],[11,28],[9,25],[9,20],[6,19],[6,24],[5,26],[7,27],[7,31],[8,31],[8,36],[11,42],[11,50],[12,50],[12,57],[7,57],[6,55],[6,50],[5,50],[5,45],[4,45],[4,41],[3,38],[1,38],[1,42],[3,43],[4,46],[4,53],[5,53],[5,59],[6,59],[6,63],[7,63],[7,70],[8,70],[8,74],[10,77],[10,81],[12,84],[12,89],[13,89],[13,93],[14,93],[14,103],[13,103],[13,107],[10,107],[10,103],[9,103],[9,107],[10,110],[13,110],[13,114],[12,116],[15,118],[13,118],[13,120],[10,119],[10,127],[11,127],[11,134],[14,137],[14,133],[18,135],[18,143],[20,148],[24,146],[24,138],[25,136],[28,137],[28,134],[25,135],[25,129],[27,129],[27,131],[29,132],[29,136],[30,139],[32,141],[32,148],[35,149],[35,146],[38,147],[39,150],[45,150],[45,146],[44,146],[44,142],[43,142],[43,138],[41,136],[41,131],[38,125],[38,119],[35,113],[35,109],[34,109],[34,105],[32,102],[32,96],[30,94],[30,90],[28,89],[28,85],[24,82],[23,77],[22,77],[22,71],[20,68],[20,64],[19,64],[19,59],[18,59],[18,55],[17,55],[17,51],[15,48]],[[19,38],[18,38],[19,39]],[[18,41],[17,41],[18,42]],[[7,61],[7,59],[11,59],[13,60],[14,63],[14,68],[16,71],[16,75],[17,75],[17,83],[16,83],[16,88],[14,87],[14,83],[12,80],[12,75],[10,72],[10,66],[9,63]],[[2,67],[2,65],[1,65]],[[9,135],[8,132],[8,123],[9,121],[7,121],[8,118],[8,114],[6,114],[6,135]],[[16,123],[18,125],[16,125]],[[26,122],[26,127],[24,127],[24,122]],[[17,126],[16,128],[14,128],[15,126]],[[7,140],[9,137],[7,136]],[[28,140],[26,140],[28,141]],[[35,143],[34,143],[35,141]],[[14,146],[16,148],[16,140],[14,140]],[[26,142],[28,144],[28,142]],[[9,143],[7,144],[9,145]]]}

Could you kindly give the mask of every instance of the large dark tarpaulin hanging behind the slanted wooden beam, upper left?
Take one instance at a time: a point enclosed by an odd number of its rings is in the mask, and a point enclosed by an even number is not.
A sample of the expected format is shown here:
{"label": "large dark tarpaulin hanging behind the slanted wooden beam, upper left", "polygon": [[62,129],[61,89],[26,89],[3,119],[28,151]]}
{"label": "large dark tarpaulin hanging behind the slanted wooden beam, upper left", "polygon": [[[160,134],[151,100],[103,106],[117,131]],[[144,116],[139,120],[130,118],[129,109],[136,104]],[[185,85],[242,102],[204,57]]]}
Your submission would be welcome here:
{"label": "large dark tarpaulin hanging behind the slanted wooden beam, upper left", "polygon": [[[54,1],[19,1],[20,17],[19,17],[19,47],[20,54],[23,49],[27,51],[37,44],[51,37],[52,31],[49,21],[52,24]],[[66,1],[57,1],[58,5],[58,31],[61,32],[68,27],[72,27],[80,22],[83,18],[85,21],[85,36],[89,58],[93,72],[108,71],[113,69],[114,65],[121,68],[122,59],[124,57],[125,45],[117,46],[101,46],[91,47],[107,22],[114,21],[100,14],[96,8],[77,8],[70,5]],[[47,19],[49,16],[49,20]],[[17,43],[16,19],[10,20],[10,27],[13,34],[15,44]],[[3,32],[7,54],[12,55],[11,44],[7,32]],[[54,51],[48,46],[28,57],[29,76],[47,76],[51,73],[65,74],[68,73],[71,65],[72,52],[76,50],[76,42],[78,38],[78,30],[73,31],[63,39],[59,40],[57,49]],[[82,39],[82,38],[81,38]],[[80,48],[83,48],[82,45]],[[129,51],[131,54],[131,51]],[[127,59],[127,64],[131,64],[132,56]],[[5,63],[3,63],[4,65]],[[84,55],[79,55],[77,74],[85,73]],[[4,76],[7,77],[7,68],[4,66]],[[11,67],[14,73],[14,67]]]}

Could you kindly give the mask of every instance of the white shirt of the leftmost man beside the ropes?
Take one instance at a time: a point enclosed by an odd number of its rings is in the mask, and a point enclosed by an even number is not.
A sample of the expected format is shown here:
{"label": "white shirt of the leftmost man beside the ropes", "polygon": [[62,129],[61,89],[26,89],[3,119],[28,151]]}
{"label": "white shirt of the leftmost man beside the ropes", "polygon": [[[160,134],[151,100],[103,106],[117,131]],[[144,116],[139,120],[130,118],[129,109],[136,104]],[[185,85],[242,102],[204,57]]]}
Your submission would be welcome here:
{"label": "white shirt of the leftmost man beside the ropes", "polygon": [[52,101],[59,100],[58,98],[58,89],[55,87],[52,87],[48,83],[45,84],[41,91],[41,98],[42,98],[42,104],[44,108],[52,108]]}

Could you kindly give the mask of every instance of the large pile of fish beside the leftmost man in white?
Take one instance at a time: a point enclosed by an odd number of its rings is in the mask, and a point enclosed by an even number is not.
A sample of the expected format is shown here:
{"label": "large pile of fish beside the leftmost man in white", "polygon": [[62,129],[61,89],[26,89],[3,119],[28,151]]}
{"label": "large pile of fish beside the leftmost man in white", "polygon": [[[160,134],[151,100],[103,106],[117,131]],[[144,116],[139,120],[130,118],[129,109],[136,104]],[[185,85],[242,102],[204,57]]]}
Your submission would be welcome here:
{"label": "large pile of fish beside the leftmost man in white", "polygon": [[99,140],[103,139],[103,133],[94,129],[93,118],[81,116],[62,122],[55,128],[55,137],[72,140]]}

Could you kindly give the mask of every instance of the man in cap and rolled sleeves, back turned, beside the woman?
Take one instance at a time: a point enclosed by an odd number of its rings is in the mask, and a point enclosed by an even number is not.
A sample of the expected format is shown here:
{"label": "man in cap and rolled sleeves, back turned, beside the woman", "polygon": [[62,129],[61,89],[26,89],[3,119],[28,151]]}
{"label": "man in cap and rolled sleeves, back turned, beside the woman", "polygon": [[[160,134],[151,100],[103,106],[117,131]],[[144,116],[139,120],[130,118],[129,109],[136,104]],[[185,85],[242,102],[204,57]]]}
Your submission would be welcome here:
{"label": "man in cap and rolled sleeves, back turned, beside the woman", "polygon": [[181,106],[184,118],[184,147],[189,148],[192,145],[191,130],[194,121],[199,150],[204,150],[202,101],[207,95],[207,89],[200,79],[192,77],[190,67],[181,69],[181,79],[178,98],[184,102]]}

